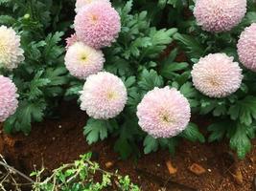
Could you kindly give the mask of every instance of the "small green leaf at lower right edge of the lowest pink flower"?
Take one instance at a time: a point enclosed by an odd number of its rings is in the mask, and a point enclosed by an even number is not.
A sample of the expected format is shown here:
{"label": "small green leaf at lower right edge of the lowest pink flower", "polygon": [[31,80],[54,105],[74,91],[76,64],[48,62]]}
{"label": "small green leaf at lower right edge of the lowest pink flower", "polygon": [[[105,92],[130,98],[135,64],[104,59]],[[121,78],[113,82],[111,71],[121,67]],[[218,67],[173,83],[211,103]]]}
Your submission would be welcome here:
{"label": "small green leaf at lower right edge of the lowest pink flower", "polygon": [[198,126],[195,123],[189,123],[187,128],[181,133],[181,136],[193,142],[196,142],[196,141],[199,141],[201,143],[205,142],[205,138],[199,132]]}

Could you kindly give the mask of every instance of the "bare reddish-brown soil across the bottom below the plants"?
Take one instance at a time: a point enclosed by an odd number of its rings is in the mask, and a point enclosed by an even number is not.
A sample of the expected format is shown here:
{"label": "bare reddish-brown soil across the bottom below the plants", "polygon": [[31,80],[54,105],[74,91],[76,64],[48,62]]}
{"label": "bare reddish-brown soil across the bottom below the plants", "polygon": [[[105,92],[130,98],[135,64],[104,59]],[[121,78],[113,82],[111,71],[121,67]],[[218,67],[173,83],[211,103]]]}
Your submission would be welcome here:
{"label": "bare reddish-brown soil across the bottom below the plants", "polygon": [[[78,159],[85,152],[99,154],[97,161],[105,167],[108,161],[116,161],[113,169],[119,169],[123,175],[138,183],[144,191],[158,190],[200,190],[200,191],[250,191],[256,174],[256,141],[253,150],[243,161],[232,164],[232,154],[228,153],[225,143],[199,144],[183,141],[179,144],[176,155],[171,158],[168,151],[143,156],[137,164],[133,160],[118,160],[113,152],[112,139],[87,145],[82,136],[82,127],[86,115],[76,103],[62,106],[61,120],[46,120],[35,124],[29,137],[0,135],[0,152],[10,164],[29,174],[34,167],[44,165],[49,170],[61,163]],[[203,125],[201,128],[204,128]],[[166,161],[171,160],[177,168],[175,175],[170,175]],[[231,161],[231,162],[230,162]],[[206,173],[195,175],[188,170],[193,164],[202,166]],[[234,169],[240,169],[243,182],[238,183],[232,176]],[[190,188],[186,187],[189,186]],[[194,189],[192,189],[194,188]]]}

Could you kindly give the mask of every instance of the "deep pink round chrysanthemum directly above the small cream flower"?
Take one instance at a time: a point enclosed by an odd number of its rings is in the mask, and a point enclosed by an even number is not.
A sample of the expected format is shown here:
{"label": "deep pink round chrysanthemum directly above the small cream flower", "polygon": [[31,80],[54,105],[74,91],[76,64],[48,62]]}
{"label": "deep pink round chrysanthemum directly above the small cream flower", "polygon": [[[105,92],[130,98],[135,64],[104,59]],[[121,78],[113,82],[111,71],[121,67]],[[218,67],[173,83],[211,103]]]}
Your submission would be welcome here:
{"label": "deep pink round chrysanthemum directly above the small cream flower", "polygon": [[120,16],[107,3],[92,3],[77,14],[78,39],[95,49],[110,46],[121,30]]}

